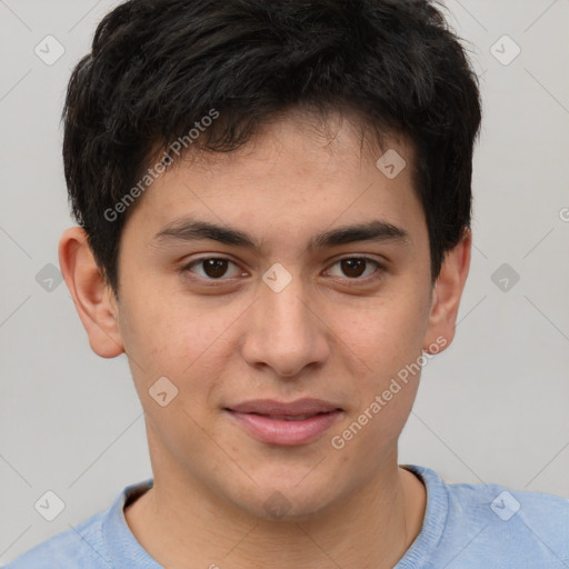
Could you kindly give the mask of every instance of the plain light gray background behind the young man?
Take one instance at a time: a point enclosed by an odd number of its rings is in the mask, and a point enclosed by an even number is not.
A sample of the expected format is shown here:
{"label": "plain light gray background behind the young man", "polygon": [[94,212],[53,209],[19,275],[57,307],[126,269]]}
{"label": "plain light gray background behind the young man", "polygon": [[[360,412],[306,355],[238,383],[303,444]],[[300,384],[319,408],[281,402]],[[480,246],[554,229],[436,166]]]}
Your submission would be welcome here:
{"label": "plain light gray background behind the young man", "polygon": [[[44,289],[72,224],[64,88],[116,3],[0,0],[0,563],[151,476],[126,357],[91,352],[64,282]],[[569,4],[447,6],[481,74],[475,250],[457,339],[423,371],[400,462],[569,497]],[[48,34],[66,50],[52,64],[34,53],[57,54]],[[509,64],[490,52],[511,59],[505,34],[521,49]],[[34,509],[47,490],[66,505],[51,522]]]}

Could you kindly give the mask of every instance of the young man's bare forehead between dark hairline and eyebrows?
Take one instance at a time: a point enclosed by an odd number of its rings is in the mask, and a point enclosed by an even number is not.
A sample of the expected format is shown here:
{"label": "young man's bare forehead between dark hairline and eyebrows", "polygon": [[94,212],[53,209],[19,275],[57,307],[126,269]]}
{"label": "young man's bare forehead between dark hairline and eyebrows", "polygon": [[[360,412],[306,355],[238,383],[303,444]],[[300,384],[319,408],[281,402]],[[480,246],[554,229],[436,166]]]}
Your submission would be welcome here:
{"label": "young man's bare forehead between dark hairline and eyebrows", "polygon": [[308,238],[311,228],[320,233],[335,223],[379,218],[411,233],[422,218],[412,147],[401,137],[382,143],[378,148],[346,118],[322,123],[292,113],[237,150],[193,151],[174,160],[140,198],[128,224],[150,239],[191,216],[257,230],[259,238],[278,229],[290,239]]}

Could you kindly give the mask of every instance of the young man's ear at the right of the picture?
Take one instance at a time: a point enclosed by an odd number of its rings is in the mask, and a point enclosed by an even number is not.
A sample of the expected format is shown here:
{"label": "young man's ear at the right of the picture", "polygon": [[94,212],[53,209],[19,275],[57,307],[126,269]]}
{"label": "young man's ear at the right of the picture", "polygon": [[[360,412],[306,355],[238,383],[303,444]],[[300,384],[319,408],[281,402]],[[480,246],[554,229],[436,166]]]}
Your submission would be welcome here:
{"label": "young man's ear at the right of the picture", "polygon": [[[470,268],[471,250],[472,233],[470,229],[466,229],[458,244],[445,256],[432,291],[429,326],[423,345],[427,352],[430,352],[430,346],[437,346],[437,351],[432,353],[442,351],[455,338],[460,298]],[[441,338],[446,342],[441,342]]]}

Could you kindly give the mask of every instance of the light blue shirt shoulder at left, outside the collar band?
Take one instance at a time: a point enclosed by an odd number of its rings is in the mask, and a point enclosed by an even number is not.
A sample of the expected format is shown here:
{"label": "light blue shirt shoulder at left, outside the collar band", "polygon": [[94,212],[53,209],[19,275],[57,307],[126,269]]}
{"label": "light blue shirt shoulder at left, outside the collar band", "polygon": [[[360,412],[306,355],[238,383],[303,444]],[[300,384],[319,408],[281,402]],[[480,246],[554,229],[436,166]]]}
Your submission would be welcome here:
{"label": "light blue shirt shoulder at left, outside the collar band", "polygon": [[4,569],[99,569],[111,566],[104,552],[100,512],[18,557]]}

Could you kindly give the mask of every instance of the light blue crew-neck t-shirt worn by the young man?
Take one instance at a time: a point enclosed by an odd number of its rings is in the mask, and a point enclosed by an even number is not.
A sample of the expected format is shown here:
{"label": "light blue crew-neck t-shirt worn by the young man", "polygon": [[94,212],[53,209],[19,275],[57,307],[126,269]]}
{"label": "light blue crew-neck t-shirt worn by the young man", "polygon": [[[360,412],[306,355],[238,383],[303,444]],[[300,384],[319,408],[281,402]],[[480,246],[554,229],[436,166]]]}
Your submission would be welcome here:
{"label": "light blue crew-neck t-shirt worn by the young man", "polygon": [[[568,499],[498,485],[447,483],[428,468],[405,468],[423,480],[427,509],[419,536],[395,569],[569,568]],[[127,487],[107,511],[40,543],[4,569],[161,569],[123,513],[126,501],[151,486],[147,480]]]}

